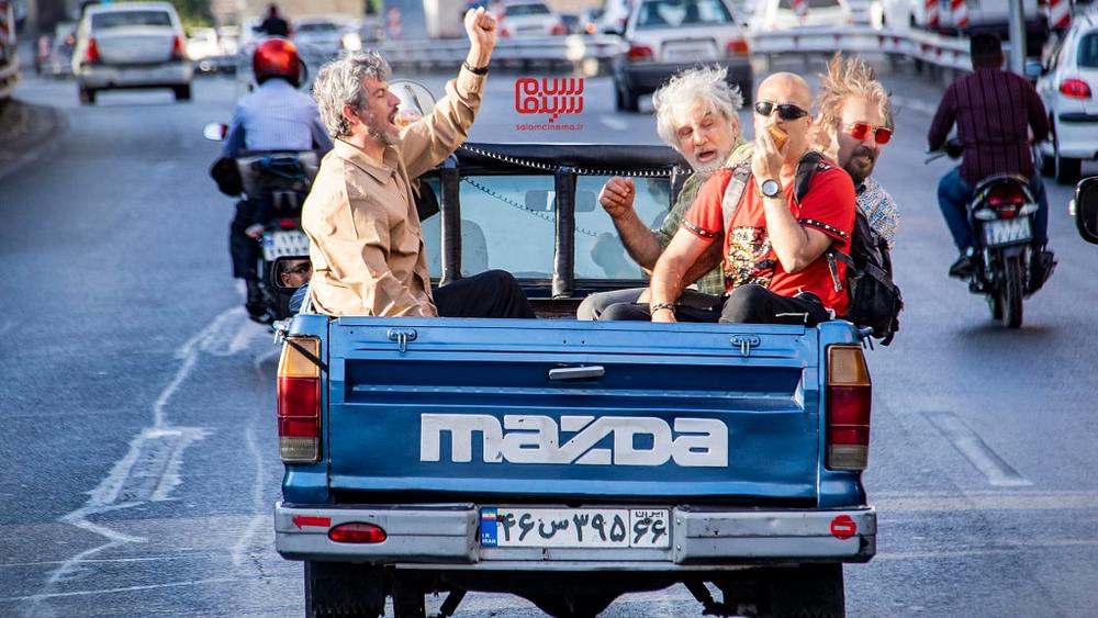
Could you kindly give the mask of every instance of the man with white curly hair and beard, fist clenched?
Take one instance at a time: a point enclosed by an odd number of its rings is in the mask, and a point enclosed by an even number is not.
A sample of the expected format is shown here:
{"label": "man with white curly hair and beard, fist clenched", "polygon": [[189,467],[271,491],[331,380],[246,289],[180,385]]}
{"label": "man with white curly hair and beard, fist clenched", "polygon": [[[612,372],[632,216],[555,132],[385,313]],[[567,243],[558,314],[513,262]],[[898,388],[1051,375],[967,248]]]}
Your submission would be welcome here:
{"label": "man with white curly hair and beard, fist clenched", "polygon": [[[690,210],[698,189],[722,167],[735,167],[750,160],[751,144],[740,135],[737,112],[743,106],[743,95],[727,81],[727,69],[718,66],[687,69],[676,74],[652,94],[656,106],[656,131],[665,144],[682,154],[694,171],[663,220],[659,229],[651,229],[634,210],[637,188],[628,178],[614,177],[598,194],[598,203],[614,222],[621,244],[641,268],[651,270],[660,254],[671,241]],[[720,302],[725,278],[720,266],[713,270],[688,272],[688,281],[697,281],[697,290],[685,290],[682,303],[709,307]],[[600,292],[584,299],[576,312],[579,319],[598,319],[602,312],[616,303],[641,302],[645,288]]]}

